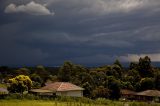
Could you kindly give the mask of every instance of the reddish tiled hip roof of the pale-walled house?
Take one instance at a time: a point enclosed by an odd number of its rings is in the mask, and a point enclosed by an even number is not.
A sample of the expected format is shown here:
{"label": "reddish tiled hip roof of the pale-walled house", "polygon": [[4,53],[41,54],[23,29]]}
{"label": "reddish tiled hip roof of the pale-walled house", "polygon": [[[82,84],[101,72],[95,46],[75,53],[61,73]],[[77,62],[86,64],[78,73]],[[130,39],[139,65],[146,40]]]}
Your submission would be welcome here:
{"label": "reddish tiled hip roof of the pale-walled house", "polygon": [[55,82],[48,84],[41,89],[43,90],[51,90],[51,91],[75,91],[75,90],[84,90],[83,88],[71,84],[69,82]]}

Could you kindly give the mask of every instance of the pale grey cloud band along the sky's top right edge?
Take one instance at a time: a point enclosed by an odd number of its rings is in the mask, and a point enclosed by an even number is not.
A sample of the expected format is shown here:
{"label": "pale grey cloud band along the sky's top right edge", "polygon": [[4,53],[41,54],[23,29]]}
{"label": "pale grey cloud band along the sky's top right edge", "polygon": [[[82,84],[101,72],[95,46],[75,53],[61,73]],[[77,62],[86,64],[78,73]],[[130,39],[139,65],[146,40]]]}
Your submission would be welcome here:
{"label": "pale grey cloud band along the sky's top right edge", "polygon": [[[158,11],[158,0],[54,0],[48,2],[48,6],[56,6],[57,10],[65,9],[66,12],[76,15],[106,15],[106,14],[130,14],[140,10]],[[64,13],[65,14],[65,13]]]}

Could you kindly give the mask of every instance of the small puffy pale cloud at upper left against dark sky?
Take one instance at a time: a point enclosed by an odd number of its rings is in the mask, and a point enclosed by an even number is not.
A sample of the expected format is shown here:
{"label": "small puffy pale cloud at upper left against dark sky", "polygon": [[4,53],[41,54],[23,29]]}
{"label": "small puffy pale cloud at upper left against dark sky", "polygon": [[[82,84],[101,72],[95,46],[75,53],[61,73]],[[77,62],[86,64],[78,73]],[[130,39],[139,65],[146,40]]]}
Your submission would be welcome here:
{"label": "small puffy pale cloud at upper left against dark sky", "polygon": [[54,15],[54,12],[51,12],[50,10],[48,10],[46,7],[46,5],[41,5],[38,3],[35,3],[34,1],[29,2],[26,5],[19,5],[16,6],[16,4],[9,4],[4,12],[5,13],[28,13],[28,14],[32,14],[32,15]]}

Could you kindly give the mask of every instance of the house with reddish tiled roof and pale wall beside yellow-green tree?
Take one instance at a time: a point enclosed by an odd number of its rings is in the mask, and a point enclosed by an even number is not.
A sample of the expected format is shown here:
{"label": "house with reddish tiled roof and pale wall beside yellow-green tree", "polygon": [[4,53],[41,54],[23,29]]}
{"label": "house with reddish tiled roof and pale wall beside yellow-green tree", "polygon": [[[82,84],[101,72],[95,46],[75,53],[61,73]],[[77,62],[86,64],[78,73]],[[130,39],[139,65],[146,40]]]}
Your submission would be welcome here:
{"label": "house with reddish tiled roof and pale wall beside yellow-green tree", "polygon": [[41,94],[42,92],[45,94],[55,93],[57,96],[83,97],[83,90],[84,90],[83,88],[69,82],[54,82],[40,89],[33,89],[31,91],[41,93]]}

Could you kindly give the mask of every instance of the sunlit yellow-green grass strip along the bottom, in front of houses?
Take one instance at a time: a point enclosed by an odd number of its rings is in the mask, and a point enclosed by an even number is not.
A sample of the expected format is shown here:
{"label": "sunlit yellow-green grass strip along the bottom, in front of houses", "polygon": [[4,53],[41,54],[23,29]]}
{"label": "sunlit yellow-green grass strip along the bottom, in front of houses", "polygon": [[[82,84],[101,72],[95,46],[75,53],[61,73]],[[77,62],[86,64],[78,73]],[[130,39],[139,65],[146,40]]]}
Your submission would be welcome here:
{"label": "sunlit yellow-green grass strip along the bottom, in front of houses", "polygon": [[156,103],[142,103],[142,102],[113,102],[107,104],[95,103],[81,103],[81,102],[56,102],[44,100],[0,100],[0,106],[160,106]]}

